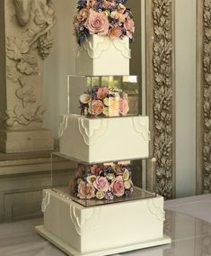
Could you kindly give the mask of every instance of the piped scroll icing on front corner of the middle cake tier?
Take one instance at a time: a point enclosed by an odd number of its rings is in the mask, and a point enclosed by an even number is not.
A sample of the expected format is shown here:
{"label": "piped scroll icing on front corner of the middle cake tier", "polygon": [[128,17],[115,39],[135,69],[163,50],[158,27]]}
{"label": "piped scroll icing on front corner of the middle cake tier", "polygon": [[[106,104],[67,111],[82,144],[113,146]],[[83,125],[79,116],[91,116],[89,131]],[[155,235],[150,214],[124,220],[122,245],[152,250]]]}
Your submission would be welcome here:
{"label": "piped scroll icing on front corner of the middle cake tier", "polygon": [[78,128],[79,132],[84,138],[84,143],[87,146],[92,146],[99,137],[103,136],[108,127],[108,121],[105,118],[101,118],[99,120],[94,120],[92,122],[92,129],[87,118],[79,118],[78,119]]}

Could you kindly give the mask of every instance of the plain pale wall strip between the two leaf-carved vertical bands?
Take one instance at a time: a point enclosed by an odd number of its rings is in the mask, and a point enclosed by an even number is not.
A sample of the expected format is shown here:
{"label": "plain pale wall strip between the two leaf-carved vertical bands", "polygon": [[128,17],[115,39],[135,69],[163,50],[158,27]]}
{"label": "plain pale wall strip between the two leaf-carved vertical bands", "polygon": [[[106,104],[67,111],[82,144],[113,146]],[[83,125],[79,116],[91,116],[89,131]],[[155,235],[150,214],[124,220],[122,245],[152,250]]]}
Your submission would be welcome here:
{"label": "plain pale wall strip between the two leaf-carved vertical bands", "polygon": [[175,1],[176,194],[196,189],[196,0]]}

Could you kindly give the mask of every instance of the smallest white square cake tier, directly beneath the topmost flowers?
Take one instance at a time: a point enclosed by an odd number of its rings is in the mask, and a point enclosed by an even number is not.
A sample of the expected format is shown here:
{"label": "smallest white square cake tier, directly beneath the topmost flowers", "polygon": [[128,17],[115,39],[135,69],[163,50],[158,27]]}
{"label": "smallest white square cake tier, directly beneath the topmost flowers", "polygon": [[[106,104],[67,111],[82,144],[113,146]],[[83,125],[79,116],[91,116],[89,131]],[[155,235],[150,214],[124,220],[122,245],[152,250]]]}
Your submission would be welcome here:
{"label": "smallest white square cake tier, directly beneath the topmost flowers", "polygon": [[131,58],[129,39],[110,40],[108,36],[91,35],[76,57],[76,74],[87,76],[128,76]]}

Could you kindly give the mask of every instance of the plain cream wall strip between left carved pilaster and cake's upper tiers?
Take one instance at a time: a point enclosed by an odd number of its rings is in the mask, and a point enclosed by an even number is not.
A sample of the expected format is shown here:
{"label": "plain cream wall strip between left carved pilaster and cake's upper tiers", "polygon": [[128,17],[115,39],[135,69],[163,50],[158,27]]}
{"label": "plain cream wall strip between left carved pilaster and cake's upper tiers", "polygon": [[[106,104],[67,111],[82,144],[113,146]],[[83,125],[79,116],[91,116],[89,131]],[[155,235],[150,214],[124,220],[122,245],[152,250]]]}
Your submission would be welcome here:
{"label": "plain cream wall strip between left carved pilaster and cake's upper tiers", "polygon": [[55,44],[44,64],[43,102],[48,112],[44,127],[57,137],[59,114],[67,112],[67,75],[75,73],[75,38],[73,16],[76,0],[54,0],[57,26],[54,29]]}

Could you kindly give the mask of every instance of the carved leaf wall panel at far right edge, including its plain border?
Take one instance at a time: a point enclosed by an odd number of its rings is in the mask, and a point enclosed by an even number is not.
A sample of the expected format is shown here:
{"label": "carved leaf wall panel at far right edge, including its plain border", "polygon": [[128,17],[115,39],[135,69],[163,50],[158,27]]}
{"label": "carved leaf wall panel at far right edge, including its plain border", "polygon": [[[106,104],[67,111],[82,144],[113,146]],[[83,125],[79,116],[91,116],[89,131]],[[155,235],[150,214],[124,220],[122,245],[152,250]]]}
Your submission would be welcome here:
{"label": "carved leaf wall panel at far right edge, including its plain border", "polygon": [[198,0],[197,192],[211,193],[211,0]]}

